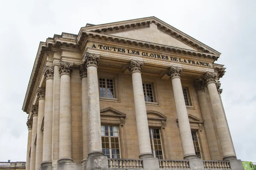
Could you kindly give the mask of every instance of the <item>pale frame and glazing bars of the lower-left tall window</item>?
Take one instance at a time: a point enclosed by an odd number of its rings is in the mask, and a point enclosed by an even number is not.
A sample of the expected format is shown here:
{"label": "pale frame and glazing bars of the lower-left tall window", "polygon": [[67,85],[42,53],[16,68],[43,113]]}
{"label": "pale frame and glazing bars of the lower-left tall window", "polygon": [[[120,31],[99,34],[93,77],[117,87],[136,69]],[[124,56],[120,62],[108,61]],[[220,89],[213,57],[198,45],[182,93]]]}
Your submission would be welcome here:
{"label": "pale frame and glazing bars of the lower-left tall window", "polygon": [[[121,141],[120,141],[120,130],[119,130],[119,126],[118,125],[101,125],[101,127],[102,126],[108,126],[108,136],[102,136],[102,130],[101,130],[101,137],[108,137],[108,141],[109,141],[109,148],[103,148],[102,147],[102,152],[103,152],[103,149],[109,149],[109,156],[110,156],[110,158],[109,159],[122,159],[122,154],[121,154]],[[118,144],[119,144],[119,158],[113,158],[112,157],[112,146],[111,146],[111,137],[112,138],[116,138],[116,136],[111,136],[110,135],[110,133],[111,133],[111,131],[110,131],[110,127],[117,127],[117,131],[118,131],[118,136],[117,136],[117,138],[118,138]],[[115,148],[116,149],[116,148]]]}

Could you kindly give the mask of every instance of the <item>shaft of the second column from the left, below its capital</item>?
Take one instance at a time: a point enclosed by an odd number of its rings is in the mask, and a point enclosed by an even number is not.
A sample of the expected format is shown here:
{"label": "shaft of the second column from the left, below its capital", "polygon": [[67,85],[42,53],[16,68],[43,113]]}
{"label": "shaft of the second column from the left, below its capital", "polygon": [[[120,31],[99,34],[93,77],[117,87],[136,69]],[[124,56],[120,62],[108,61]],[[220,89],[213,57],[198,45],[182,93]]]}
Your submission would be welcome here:
{"label": "shaft of the second column from the left, below its capital", "polygon": [[33,125],[32,125],[32,140],[31,140],[31,152],[30,152],[30,170],[35,170],[35,153],[36,153],[36,145],[35,138],[37,133],[38,126],[38,116],[33,116]]}

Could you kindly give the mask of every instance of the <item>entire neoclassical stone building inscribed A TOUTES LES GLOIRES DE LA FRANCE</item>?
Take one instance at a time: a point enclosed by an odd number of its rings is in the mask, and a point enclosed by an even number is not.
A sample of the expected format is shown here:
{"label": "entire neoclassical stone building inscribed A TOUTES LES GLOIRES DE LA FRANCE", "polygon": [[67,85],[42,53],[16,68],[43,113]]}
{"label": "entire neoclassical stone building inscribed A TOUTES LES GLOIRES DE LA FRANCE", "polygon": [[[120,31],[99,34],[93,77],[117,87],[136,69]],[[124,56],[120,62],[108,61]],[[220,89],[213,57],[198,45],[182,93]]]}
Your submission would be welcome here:
{"label": "entire neoclassical stone building inscribed A TOUTES LES GLOIRES DE LA FRANCE", "polygon": [[243,169],[220,54],[156,17],[40,42],[23,103],[26,170]]}

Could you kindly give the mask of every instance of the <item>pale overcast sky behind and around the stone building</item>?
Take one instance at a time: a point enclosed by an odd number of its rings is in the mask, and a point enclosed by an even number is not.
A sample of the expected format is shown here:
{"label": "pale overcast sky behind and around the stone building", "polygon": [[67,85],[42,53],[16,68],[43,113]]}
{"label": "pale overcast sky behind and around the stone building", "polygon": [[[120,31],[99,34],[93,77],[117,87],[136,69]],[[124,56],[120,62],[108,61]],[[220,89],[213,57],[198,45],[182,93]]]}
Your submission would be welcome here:
{"label": "pale overcast sky behind and around the stone building", "polygon": [[[138,1],[138,2],[137,2]],[[255,0],[2,0],[0,161],[26,161],[21,108],[40,41],[86,25],[155,16],[221,52],[221,95],[238,159],[256,161]]]}

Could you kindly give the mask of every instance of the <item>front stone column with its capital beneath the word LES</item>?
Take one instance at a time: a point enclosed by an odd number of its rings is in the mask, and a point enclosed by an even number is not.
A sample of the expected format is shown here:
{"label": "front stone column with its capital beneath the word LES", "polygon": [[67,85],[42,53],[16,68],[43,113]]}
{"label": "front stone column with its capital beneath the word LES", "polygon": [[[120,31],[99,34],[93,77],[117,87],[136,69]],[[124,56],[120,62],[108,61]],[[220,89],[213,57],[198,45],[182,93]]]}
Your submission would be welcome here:
{"label": "front stone column with its capital beneath the word LES", "polygon": [[153,157],[148,131],[148,117],[144,99],[144,92],[141,79],[141,69],[143,62],[131,60],[128,69],[132,76],[132,86],[134,91],[134,104],[139,138],[140,159],[143,157]]}

